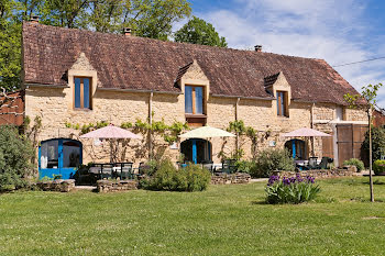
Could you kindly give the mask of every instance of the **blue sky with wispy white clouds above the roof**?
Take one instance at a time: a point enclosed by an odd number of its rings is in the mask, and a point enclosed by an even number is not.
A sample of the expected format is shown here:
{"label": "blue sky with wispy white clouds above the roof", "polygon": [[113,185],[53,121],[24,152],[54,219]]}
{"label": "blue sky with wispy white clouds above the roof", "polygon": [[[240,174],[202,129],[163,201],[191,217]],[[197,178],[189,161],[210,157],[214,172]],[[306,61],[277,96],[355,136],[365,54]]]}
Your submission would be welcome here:
{"label": "blue sky with wispy white clouds above the roof", "polygon": [[[323,58],[330,65],[385,57],[383,0],[190,0],[229,47]],[[180,27],[186,21],[176,24]],[[359,91],[385,84],[385,59],[336,67]],[[385,85],[378,93],[385,108]]]}

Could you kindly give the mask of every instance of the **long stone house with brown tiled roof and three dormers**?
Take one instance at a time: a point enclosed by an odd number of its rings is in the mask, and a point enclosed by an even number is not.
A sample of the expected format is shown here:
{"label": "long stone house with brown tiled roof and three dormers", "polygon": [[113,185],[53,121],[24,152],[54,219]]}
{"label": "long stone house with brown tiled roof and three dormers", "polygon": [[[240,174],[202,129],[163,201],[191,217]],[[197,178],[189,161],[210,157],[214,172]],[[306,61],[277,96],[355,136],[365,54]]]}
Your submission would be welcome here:
{"label": "long stone house with brown tiled roof and three dormers", "polygon": [[[261,47],[219,48],[36,22],[23,24],[22,38],[25,115],[42,119],[37,140],[44,175],[66,176],[80,163],[108,160],[109,144],[80,140],[76,129],[101,121],[118,126],[139,119],[164,120],[166,124],[227,129],[230,122],[242,120],[257,131],[257,151],[292,149],[295,144],[297,158],[327,155],[337,165],[358,156],[346,148],[362,138],[343,146],[339,126],[361,129],[366,115],[346,108],[343,94],[358,92],[322,59],[264,53]],[[314,127],[333,137],[308,142],[280,136],[299,127]],[[353,130],[344,134],[354,137]],[[121,160],[138,165],[147,159],[152,145],[146,138],[124,142]],[[173,145],[156,140],[161,155],[174,160],[182,152],[188,160],[220,163],[223,154],[237,147],[233,138]],[[252,142],[243,137],[238,143],[243,157],[252,157]]]}

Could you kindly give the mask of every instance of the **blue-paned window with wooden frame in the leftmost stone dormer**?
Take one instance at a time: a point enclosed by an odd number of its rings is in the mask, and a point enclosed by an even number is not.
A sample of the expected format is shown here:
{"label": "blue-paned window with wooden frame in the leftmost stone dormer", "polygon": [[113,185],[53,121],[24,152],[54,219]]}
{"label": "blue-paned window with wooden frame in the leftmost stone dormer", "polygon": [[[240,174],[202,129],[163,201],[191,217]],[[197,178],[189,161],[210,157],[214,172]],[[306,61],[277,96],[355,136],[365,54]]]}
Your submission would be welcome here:
{"label": "blue-paned window with wooden frame in the leftmost stone dormer", "polygon": [[91,78],[75,77],[75,109],[91,109]]}

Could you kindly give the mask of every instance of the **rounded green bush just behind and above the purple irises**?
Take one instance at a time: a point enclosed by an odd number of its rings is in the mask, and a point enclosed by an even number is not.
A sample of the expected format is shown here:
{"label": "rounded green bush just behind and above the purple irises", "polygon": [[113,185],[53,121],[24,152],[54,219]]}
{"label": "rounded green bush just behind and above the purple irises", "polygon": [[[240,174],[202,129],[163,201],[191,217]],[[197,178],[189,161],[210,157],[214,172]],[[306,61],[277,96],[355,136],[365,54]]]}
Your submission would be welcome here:
{"label": "rounded green bush just behind and above the purple irises", "polygon": [[294,169],[294,159],[287,149],[265,149],[256,157],[250,175],[252,177],[267,178],[274,170],[293,171]]}

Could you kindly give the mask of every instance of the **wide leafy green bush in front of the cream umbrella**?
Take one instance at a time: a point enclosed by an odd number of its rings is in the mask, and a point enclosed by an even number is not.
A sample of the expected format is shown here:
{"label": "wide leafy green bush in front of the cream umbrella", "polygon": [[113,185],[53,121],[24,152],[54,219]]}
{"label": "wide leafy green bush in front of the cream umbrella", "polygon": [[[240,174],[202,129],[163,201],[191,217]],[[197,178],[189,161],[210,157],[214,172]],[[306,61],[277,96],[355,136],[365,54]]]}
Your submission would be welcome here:
{"label": "wide leafy green bush in front of the cream umbrella", "polygon": [[140,185],[150,190],[201,191],[210,182],[210,172],[198,165],[177,169],[169,159],[158,163],[153,176],[141,179]]}

